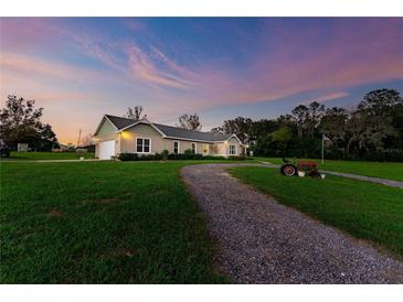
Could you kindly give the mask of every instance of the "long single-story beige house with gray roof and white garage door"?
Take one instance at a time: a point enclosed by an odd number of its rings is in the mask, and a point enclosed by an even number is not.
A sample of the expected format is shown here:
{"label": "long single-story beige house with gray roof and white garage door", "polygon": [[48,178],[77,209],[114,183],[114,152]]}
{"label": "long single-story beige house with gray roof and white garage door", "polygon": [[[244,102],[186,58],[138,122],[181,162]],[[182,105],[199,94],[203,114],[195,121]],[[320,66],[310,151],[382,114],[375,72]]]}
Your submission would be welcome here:
{"label": "long single-story beige house with gray roof and white garage door", "polygon": [[153,154],[168,150],[183,153],[190,149],[203,155],[241,155],[245,147],[235,134],[194,131],[160,125],[147,118],[135,121],[105,115],[94,133],[95,157],[109,160],[120,153]]}

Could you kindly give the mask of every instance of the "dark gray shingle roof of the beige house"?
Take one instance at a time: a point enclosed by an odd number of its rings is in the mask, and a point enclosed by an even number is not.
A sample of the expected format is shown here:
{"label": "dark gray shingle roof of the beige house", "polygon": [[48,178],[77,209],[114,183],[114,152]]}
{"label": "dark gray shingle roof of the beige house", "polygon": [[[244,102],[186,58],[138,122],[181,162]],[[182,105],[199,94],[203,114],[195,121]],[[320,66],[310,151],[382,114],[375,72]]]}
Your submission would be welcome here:
{"label": "dark gray shingle roof of the beige house", "polygon": [[[110,115],[105,115],[115,127],[120,130],[125,127],[132,125],[135,121],[128,118],[121,118]],[[184,140],[198,140],[198,141],[226,141],[232,134],[224,134],[219,131],[194,131],[188,130],[179,127],[161,125],[151,122],[155,127],[157,127],[163,134],[171,138],[184,139]]]}

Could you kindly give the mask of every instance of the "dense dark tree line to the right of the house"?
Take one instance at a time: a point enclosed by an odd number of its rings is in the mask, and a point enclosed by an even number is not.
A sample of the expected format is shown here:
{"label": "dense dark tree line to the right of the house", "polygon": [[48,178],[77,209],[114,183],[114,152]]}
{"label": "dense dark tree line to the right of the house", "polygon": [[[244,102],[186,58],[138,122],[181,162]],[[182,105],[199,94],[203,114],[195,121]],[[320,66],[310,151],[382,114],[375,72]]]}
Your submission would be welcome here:
{"label": "dense dark tree line to the right of the house", "polygon": [[403,100],[395,89],[377,89],[354,110],[298,105],[276,119],[225,120],[215,130],[236,133],[257,155],[403,161]]}

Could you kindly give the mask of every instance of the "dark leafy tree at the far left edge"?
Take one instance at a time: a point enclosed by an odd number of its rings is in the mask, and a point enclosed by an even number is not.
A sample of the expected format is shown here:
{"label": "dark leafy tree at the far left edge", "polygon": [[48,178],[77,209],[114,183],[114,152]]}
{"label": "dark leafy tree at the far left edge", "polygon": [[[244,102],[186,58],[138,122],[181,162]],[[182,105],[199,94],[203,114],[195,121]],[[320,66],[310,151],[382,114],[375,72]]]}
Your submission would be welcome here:
{"label": "dark leafy tree at the far left edge", "polygon": [[0,109],[0,136],[12,149],[42,131],[43,108],[35,109],[34,105],[35,100],[8,96],[6,107]]}

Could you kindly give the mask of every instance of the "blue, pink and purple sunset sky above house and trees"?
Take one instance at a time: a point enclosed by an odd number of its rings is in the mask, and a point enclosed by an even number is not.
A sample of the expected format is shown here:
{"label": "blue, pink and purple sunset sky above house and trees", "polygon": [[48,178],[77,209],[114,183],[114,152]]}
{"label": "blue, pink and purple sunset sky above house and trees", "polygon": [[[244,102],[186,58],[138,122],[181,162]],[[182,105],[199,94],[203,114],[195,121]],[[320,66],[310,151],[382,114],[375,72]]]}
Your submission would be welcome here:
{"label": "blue, pink and purple sunset sky above house and trees", "polygon": [[403,93],[399,18],[1,19],[1,99],[44,108],[61,142],[104,114],[141,105],[174,125],[198,112],[274,118],[298,104],[352,107],[374,88]]}

